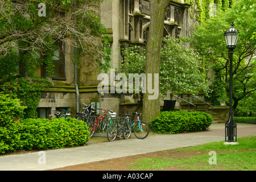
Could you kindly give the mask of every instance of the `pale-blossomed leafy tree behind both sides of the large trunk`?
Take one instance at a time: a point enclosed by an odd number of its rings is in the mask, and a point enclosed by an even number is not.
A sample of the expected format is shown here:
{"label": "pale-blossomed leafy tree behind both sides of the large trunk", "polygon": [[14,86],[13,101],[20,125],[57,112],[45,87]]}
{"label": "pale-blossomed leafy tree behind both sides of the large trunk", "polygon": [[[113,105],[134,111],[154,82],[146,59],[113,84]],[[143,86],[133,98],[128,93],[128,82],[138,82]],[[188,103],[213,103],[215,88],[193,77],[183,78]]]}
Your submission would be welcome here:
{"label": "pale-blossomed leafy tree behind both sides of the large trunk", "polygon": [[[131,46],[122,51],[123,59],[119,72],[126,74],[145,72],[145,48]],[[163,38],[160,57],[160,94],[162,98],[166,96],[168,90],[193,94],[200,90],[208,90],[200,60],[201,57],[195,50],[184,46],[180,39],[174,39],[171,36]]]}

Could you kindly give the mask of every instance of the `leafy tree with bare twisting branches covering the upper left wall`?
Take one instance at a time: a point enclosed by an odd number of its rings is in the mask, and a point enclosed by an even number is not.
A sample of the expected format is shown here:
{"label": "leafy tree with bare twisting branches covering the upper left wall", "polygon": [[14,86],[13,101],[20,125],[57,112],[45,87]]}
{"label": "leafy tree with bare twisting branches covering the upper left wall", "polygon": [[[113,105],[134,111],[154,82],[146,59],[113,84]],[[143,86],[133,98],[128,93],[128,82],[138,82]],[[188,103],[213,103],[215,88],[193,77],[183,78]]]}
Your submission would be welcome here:
{"label": "leafy tree with bare twisting branches covering the upper left wall", "polygon": [[[45,16],[39,16],[36,0],[1,1],[0,92],[22,101],[25,118],[36,117],[41,93],[51,86],[55,43],[76,47],[79,56],[89,55],[100,71],[110,68],[111,49],[100,20],[102,1],[43,0]],[[82,61],[88,59],[77,59],[80,65]]]}

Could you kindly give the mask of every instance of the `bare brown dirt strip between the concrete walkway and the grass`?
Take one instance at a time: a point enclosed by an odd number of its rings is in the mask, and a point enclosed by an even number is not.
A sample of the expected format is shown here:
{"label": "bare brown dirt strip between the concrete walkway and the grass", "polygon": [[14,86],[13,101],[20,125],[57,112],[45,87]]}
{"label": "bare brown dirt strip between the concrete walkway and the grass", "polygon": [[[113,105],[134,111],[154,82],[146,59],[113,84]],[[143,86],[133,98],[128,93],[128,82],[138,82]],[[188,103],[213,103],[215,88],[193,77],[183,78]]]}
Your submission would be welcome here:
{"label": "bare brown dirt strip between the concrete walkway and the grass", "polygon": [[[204,155],[207,151],[177,151],[164,150],[158,152],[150,152],[147,154],[126,156],[123,158],[115,158],[109,160],[101,160],[98,162],[79,164],[75,166],[68,166],[63,168],[52,169],[52,171],[130,171],[133,163],[142,158],[170,158],[181,159],[188,156]],[[179,167],[169,167],[158,169],[163,171],[184,171],[185,169]]]}

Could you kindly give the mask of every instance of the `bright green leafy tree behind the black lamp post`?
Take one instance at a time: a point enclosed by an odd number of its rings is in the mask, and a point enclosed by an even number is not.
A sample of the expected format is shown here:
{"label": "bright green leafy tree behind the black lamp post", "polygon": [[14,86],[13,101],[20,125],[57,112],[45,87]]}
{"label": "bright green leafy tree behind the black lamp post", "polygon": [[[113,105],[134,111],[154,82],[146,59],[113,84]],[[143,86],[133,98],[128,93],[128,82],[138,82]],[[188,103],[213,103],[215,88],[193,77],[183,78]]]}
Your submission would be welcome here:
{"label": "bright green leafy tree behind the black lamp post", "polygon": [[[226,48],[224,31],[228,30],[234,21],[234,27],[239,31],[232,70],[235,111],[238,103],[246,103],[245,100],[254,95],[256,88],[256,67],[253,56],[256,51],[253,36],[256,24],[255,13],[254,1],[233,1],[231,9],[225,12],[218,11],[217,16],[205,20],[201,26],[196,26],[192,34],[191,46],[198,50],[207,68],[216,72],[212,85],[213,92],[209,93],[210,100],[216,104],[221,100],[229,102],[225,97],[229,93],[229,51]],[[245,112],[250,113],[250,111]]]}

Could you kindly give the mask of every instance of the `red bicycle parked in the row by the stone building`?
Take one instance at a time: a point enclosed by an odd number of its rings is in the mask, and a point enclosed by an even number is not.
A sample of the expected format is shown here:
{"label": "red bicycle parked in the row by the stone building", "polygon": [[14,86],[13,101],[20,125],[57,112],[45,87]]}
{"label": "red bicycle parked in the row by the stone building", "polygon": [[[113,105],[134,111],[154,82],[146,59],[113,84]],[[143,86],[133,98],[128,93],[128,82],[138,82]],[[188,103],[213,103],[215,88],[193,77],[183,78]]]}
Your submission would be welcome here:
{"label": "red bicycle parked in the row by the stone building", "polygon": [[100,134],[103,133],[105,127],[106,127],[106,116],[109,116],[109,115],[106,115],[107,113],[113,113],[112,110],[104,110],[104,109],[101,109],[101,108],[98,108],[100,110],[103,111],[103,114],[96,118],[94,122],[92,122],[89,126],[89,132],[90,132],[90,137],[92,137],[95,133],[96,130],[100,130]]}

